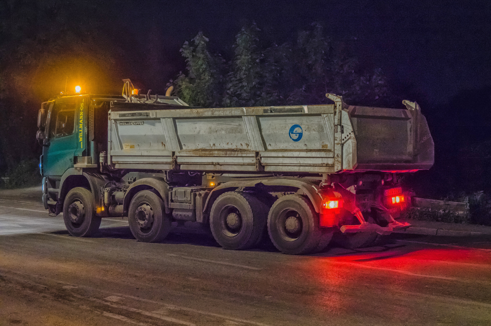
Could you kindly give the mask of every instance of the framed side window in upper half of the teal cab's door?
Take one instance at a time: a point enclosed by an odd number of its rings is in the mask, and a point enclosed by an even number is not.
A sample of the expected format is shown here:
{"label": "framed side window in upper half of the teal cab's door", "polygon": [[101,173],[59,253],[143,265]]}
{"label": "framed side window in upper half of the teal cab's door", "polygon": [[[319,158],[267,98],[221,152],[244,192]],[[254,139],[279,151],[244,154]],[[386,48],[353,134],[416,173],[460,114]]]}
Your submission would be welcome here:
{"label": "framed side window in upper half of the teal cab's door", "polygon": [[50,123],[50,138],[72,135],[75,129],[76,99],[60,99],[55,102]]}

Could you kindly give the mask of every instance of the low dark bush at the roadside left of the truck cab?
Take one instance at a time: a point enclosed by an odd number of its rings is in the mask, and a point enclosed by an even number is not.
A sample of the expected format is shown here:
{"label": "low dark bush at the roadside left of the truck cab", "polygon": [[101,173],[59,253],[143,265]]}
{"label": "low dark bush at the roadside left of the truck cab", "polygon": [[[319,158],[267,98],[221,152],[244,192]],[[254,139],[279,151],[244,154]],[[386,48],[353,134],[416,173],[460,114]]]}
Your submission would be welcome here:
{"label": "low dark bush at the roadside left of the truck cab", "polygon": [[1,188],[22,188],[41,184],[38,161],[24,160],[9,168],[1,178]]}

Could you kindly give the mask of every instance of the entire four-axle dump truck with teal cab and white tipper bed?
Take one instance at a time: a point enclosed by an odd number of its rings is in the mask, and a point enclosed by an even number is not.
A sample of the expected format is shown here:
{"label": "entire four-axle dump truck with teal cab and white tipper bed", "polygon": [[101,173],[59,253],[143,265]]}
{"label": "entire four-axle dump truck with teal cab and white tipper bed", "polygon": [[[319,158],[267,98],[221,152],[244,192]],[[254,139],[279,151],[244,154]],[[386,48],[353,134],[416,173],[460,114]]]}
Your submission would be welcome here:
{"label": "entire four-axle dump truck with teal cab and white tipper bed", "polygon": [[411,196],[401,179],[434,163],[416,102],[351,106],[326,94],[333,104],[198,108],[170,95],[124,80],[122,95],[42,103],[43,203],[72,236],[128,217],[140,242],[196,223],[227,249],[269,236],[283,253],[306,254],[410,226],[397,220]]}

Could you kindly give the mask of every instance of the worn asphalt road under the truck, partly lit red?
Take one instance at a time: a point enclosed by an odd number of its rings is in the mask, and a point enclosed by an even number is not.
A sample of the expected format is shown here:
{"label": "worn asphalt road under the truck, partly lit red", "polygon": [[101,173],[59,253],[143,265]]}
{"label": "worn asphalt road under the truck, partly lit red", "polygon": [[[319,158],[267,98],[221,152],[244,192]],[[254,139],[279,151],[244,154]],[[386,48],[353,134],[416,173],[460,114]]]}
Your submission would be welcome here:
{"label": "worn asphalt road under the truck, partly lit red", "polygon": [[290,256],[199,230],[68,235],[39,190],[0,191],[0,325],[491,325],[491,238],[391,235]]}

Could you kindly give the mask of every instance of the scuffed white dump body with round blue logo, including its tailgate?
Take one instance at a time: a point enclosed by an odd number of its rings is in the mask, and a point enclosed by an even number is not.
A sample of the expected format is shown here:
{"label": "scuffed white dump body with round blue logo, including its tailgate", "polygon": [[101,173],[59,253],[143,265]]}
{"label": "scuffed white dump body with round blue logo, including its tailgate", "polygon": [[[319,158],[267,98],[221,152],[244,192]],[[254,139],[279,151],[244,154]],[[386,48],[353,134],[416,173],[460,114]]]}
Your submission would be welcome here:
{"label": "scuffed white dump body with round blue logo, including its tailgate", "polygon": [[410,104],[180,109],[112,102],[108,163],[248,172],[428,169],[433,139],[419,107]]}

